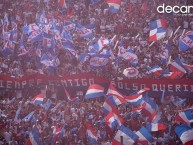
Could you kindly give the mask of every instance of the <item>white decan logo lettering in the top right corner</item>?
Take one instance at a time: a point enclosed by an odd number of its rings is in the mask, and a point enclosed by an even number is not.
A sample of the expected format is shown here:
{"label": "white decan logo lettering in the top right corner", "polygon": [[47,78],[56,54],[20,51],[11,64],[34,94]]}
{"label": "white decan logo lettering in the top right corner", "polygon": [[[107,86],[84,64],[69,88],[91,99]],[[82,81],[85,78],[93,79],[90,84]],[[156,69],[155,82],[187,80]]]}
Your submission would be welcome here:
{"label": "white decan logo lettering in the top right corner", "polygon": [[170,6],[170,5],[161,5],[157,7],[157,12],[160,14],[163,13],[174,13],[174,14],[191,14],[193,11],[193,6]]}

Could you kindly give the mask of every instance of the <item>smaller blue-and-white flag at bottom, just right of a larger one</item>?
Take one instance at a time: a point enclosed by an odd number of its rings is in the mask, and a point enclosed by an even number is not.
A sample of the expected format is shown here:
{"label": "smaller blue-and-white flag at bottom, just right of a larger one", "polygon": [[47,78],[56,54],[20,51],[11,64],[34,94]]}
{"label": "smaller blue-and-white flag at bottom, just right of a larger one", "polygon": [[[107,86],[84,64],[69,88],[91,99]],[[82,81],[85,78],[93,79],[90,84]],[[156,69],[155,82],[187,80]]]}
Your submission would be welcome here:
{"label": "smaller blue-and-white flag at bottom, just right of a larger one", "polygon": [[142,127],[135,134],[139,137],[137,140],[137,143],[141,143],[143,145],[149,145],[153,140],[152,135],[145,127]]}

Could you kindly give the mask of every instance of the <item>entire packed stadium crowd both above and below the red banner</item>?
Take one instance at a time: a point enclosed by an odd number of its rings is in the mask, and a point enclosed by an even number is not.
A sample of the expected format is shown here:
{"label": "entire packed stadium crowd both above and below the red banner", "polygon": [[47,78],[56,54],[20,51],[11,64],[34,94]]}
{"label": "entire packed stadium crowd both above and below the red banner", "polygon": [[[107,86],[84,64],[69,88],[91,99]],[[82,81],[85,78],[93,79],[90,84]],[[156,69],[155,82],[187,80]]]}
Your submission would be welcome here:
{"label": "entire packed stadium crowd both above and below the red banner", "polygon": [[[116,59],[110,59],[108,64],[102,68],[91,69],[88,62],[81,63],[80,56],[82,53],[89,51],[88,42],[90,39],[80,37],[79,34],[73,33],[72,39],[77,56],[72,57],[69,52],[60,48],[60,44],[56,44],[56,54],[60,64],[54,67],[53,71],[43,65],[41,70],[36,62],[38,42],[29,43],[24,39],[27,52],[20,55],[22,50],[19,49],[19,41],[23,37],[22,27],[24,22],[27,24],[36,23],[38,16],[44,9],[47,17],[55,18],[58,21],[79,22],[82,25],[94,26],[94,42],[103,36],[111,39],[116,35],[112,42],[112,46],[118,45],[113,49],[113,54],[118,55],[119,48],[131,48],[138,56],[138,63],[135,68],[139,74],[135,78],[156,78],[148,73],[147,67],[159,65],[163,69],[169,69],[169,65],[161,62],[160,54],[166,43],[171,44],[169,56],[171,60],[179,57],[182,61],[193,65],[193,50],[179,51],[178,39],[182,31],[193,30],[193,18],[189,16],[178,16],[172,14],[158,14],[157,6],[163,3],[170,5],[183,5],[184,0],[147,0],[147,9],[142,8],[144,1],[142,0],[122,0],[118,13],[111,13],[108,10],[108,4],[101,0],[93,4],[90,0],[66,0],[67,10],[59,8],[58,1],[52,0],[1,0],[0,2],[0,30],[4,27],[4,14],[7,13],[8,20],[16,20],[18,37],[13,42],[14,47],[9,55],[0,53],[0,74],[12,76],[15,78],[34,73],[46,75],[65,76],[67,74],[80,74],[89,72],[97,76],[109,79],[124,79],[126,76],[123,70],[132,67],[131,63],[121,60],[117,64]],[[164,18],[167,22],[166,37],[160,41],[156,41],[149,46],[149,25],[152,20]],[[173,36],[172,32],[181,26],[179,31]],[[11,24],[8,31],[12,29]],[[171,36],[171,37],[170,37]],[[0,46],[4,48],[3,31],[1,31]],[[41,50],[43,53],[43,49]],[[161,79],[163,76],[159,77]],[[183,78],[193,78],[193,73],[188,72]],[[45,88],[44,88],[45,89]],[[9,145],[28,145],[29,133],[35,125],[40,133],[40,141],[44,145],[61,144],[61,145],[91,145],[86,135],[85,124],[92,124],[97,132],[98,144],[111,145],[112,139],[116,134],[116,130],[112,131],[105,123],[105,115],[101,111],[104,98],[85,100],[80,98],[79,102],[64,101],[59,98],[52,87],[48,86],[46,92],[40,88],[30,88],[27,90],[10,91],[4,90],[1,94],[0,101],[0,144]],[[48,110],[43,105],[34,105],[30,101],[39,92],[46,94],[43,104],[50,100],[51,106]],[[20,94],[20,95],[18,95]],[[24,97],[26,96],[26,97]],[[81,96],[83,97],[83,96]],[[153,145],[180,145],[181,141],[174,132],[174,128],[179,125],[175,120],[175,115],[180,109],[192,106],[193,101],[186,98],[183,105],[176,105],[173,101],[163,103],[159,97],[152,98],[159,106],[161,112],[161,121],[165,124],[166,129],[152,133]],[[58,103],[60,107],[53,111]],[[22,106],[19,118],[22,119],[30,112],[35,111],[30,121],[15,119],[19,106]],[[122,104],[118,106],[121,117],[124,119],[124,125],[132,131],[138,131],[147,124],[147,118],[141,115],[133,116],[131,111],[134,105]],[[53,141],[53,129],[56,126],[63,126],[64,131]],[[171,131],[168,131],[170,130]],[[169,133],[170,132],[170,133]],[[137,144],[137,143],[136,143]]]}

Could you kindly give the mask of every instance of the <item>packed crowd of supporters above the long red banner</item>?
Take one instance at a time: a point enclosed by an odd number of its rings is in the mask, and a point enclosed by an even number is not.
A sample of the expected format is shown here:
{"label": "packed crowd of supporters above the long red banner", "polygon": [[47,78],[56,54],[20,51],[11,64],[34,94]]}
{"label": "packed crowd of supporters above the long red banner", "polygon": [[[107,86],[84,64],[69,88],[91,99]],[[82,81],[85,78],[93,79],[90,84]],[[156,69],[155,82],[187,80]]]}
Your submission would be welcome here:
{"label": "packed crowd of supporters above the long red banner", "polygon": [[[119,41],[117,47],[113,50],[115,57],[117,56],[120,43],[124,48],[131,48],[138,56],[138,63],[135,67],[139,74],[135,78],[152,78],[153,75],[147,73],[147,66],[153,67],[158,65],[163,69],[169,68],[169,65],[163,65],[160,59],[160,54],[165,44],[169,41],[172,48],[169,52],[171,60],[179,57],[182,61],[188,64],[192,62],[192,49],[187,51],[179,51],[178,38],[182,34],[182,31],[190,31],[193,28],[193,19],[191,16],[179,16],[173,14],[158,14],[156,7],[162,3],[170,5],[182,5],[184,1],[147,1],[147,10],[141,9],[143,1],[133,0],[131,2],[123,0],[119,13],[112,14],[108,11],[108,4],[105,1],[100,1],[97,4],[92,4],[89,0],[82,1],[69,1],[67,2],[67,11],[59,11],[58,3],[54,1],[20,1],[14,2],[3,0],[1,2],[1,14],[0,18],[3,22],[4,14],[8,14],[8,19],[14,18],[17,23],[19,31],[18,41],[15,42],[13,53],[4,57],[1,54],[1,67],[0,73],[7,74],[14,77],[20,77],[27,74],[39,73],[38,64],[35,61],[35,54],[37,49],[36,43],[25,42],[25,47],[28,49],[28,57],[20,56],[17,53],[19,48],[19,40],[23,33],[22,27],[24,26],[25,18],[27,24],[36,23],[37,17],[45,10],[46,15],[49,17],[57,18],[62,22],[71,20],[73,22],[79,22],[82,25],[92,25],[95,27],[94,35],[97,38],[104,36],[111,39],[113,36],[117,36],[112,46],[115,45],[116,40]],[[68,13],[68,14],[66,14]],[[150,22],[159,18],[164,18],[167,22],[167,36],[149,46],[149,25]],[[179,31],[170,37],[171,32],[175,31],[179,26]],[[3,23],[0,24],[2,30]],[[11,24],[9,24],[9,30]],[[116,59],[109,60],[107,66],[103,69],[95,68],[90,69],[89,63],[80,63],[79,57],[82,53],[88,52],[89,46],[87,45],[89,39],[80,37],[77,33],[72,35],[75,50],[78,53],[77,58],[70,57],[66,51],[56,49],[56,54],[60,60],[60,65],[50,72],[48,68],[43,67],[41,73],[44,74],[57,74],[63,76],[65,74],[78,74],[81,72],[90,72],[98,76],[107,78],[125,78],[123,70],[131,67],[128,61],[121,61],[118,65]],[[122,41],[121,41],[122,40]],[[4,47],[3,36],[1,35],[1,48]],[[24,61],[23,61],[24,60]],[[184,75],[184,78],[192,78],[192,73],[189,72]]]}

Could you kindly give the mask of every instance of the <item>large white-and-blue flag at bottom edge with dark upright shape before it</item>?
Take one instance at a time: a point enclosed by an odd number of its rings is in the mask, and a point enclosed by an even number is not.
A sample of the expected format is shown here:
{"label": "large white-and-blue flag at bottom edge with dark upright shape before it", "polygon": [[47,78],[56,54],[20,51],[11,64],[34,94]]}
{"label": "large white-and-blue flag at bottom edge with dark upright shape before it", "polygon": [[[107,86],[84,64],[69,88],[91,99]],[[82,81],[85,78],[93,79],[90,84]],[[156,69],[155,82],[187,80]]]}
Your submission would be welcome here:
{"label": "large white-and-blue flag at bottom edge with dark upright shape before it", "polygon": [[123,137],[123,145],[134,144],[139,138],[133,131],[131,131],[129,128],[125,127],[124,125],[122,125],[119,127],[119,130],[117,131],[112,141],[112,145],[120,145],[121,136]]}

